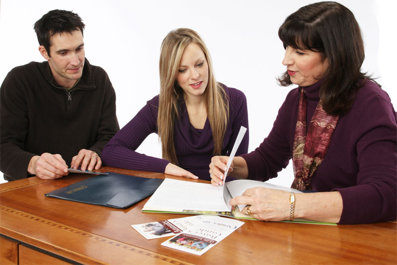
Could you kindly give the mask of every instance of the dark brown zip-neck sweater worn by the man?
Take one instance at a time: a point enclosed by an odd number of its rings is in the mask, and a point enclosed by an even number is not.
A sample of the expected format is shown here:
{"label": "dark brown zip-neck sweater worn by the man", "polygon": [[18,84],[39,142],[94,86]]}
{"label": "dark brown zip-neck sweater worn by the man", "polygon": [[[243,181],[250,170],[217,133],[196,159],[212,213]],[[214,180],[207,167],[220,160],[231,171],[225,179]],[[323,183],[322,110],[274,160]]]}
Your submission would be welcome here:
{"label": "dark brown zip-neck sweater worn by the man", "polygon": [[34,155],[61,154],[70,166],[80,149],[101,154],[119,131],[116,94],[107,73],[85,59],[78,83],[58,85],[48,62],[13,68],[0,88],[0,170],[11,181],[28,177]]}

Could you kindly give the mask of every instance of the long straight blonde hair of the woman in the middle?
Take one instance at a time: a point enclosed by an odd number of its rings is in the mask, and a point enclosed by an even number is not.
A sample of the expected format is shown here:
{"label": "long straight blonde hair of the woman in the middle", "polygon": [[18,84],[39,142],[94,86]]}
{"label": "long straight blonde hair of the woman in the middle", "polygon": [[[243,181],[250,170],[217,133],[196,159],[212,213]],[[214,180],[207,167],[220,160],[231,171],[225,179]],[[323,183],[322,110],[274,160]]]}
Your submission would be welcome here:
{"label": "long straight blonde hair of the woman in the middle", "polygon": [[170,31],[161,44],[157,129],[163,158],[176,165],[178,165],[178,161],[174,145],[174,124],[176,119],[179,119],[178,102],[181,91],[176,79],[183,52],[190,43],[199,45],[208,64],[208,84],[204,95],[214,142],[213,155],[219,155],[222,151],[223,138],[229,119],[229,101],[226,92],[222,85],[215,80],[211,57],[199,34],[188,28]]}

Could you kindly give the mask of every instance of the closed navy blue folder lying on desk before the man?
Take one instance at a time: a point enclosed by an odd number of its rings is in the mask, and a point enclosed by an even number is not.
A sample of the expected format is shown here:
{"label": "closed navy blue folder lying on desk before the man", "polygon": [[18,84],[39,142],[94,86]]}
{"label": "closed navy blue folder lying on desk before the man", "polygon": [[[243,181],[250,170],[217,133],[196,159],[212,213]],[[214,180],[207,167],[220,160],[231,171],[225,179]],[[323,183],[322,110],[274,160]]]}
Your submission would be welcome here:
{"label": "closed navy blue folder lying on desk before the man", "polygon": [[76,182],[47,193],[45,196],[115,208],[127,208],[152,195],[162,182],[162,179],[109,173],[108,175],[99,175]]}

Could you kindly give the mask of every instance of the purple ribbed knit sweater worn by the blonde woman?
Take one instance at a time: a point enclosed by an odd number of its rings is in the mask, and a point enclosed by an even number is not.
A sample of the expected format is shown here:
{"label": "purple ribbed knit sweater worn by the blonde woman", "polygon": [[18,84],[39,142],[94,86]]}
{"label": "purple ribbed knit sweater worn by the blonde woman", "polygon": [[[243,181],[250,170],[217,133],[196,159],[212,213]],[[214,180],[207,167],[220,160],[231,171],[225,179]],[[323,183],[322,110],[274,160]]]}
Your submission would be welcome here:
{"label": "purple ribbed knit sweater worn by the blonde woman", "polygon": [[[223,139],[222,155],[229,155],[240,127],[248,129],[248,112],[244,93],[235,88],[224,88],[229,97],[229,122]],[[150,133],[157,133],[158,101],[158,96],[149,100],[108,142],[101,154],[104,165],[164,173],[169,161],[135,152]],[[213,156],[214,143],[209,121],[206,120],[203,129],[196,129],[190,123],[184,102],[181,102],[178,111],[180,120],[175,122],[174,143],[179,166],[200,179],[210,180],[208,165]],[[236,155],[247,153],[248,140],[247,132]]]}

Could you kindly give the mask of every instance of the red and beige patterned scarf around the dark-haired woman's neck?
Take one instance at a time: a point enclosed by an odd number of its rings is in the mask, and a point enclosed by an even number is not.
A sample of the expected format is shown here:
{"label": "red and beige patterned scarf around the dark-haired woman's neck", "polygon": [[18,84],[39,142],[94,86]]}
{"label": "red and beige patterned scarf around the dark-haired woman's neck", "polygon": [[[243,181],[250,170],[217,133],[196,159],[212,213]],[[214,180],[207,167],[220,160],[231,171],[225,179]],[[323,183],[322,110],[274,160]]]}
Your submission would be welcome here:
{"label": "red and beige patterned scarf around the dark-haired woman's neck", "polygon": [[299,98],[292,163],[295,179],[291,188],[311,191],[311,179],[323,161],[330,145],[339,115],[330,115],[323,109],[321,100],[314,111],[309,129],[306,124],[307,99],[303,88]]}

